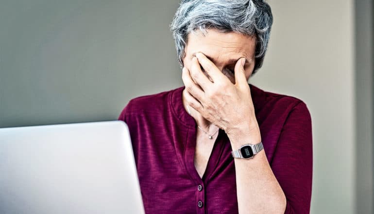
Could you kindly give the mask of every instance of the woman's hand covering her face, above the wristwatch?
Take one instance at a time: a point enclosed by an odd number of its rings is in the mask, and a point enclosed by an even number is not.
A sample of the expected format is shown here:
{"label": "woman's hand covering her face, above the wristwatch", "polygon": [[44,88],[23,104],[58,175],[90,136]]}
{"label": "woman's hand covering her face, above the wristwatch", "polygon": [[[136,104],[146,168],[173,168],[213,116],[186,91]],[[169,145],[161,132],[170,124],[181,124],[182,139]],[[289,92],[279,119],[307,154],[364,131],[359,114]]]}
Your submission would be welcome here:
{"label": "woman's hand covering her face, above the wristwatch", "polygon": [[[187,105],[223,129],[230,140],[235,140],[237,136],[259,135],[244,63],[245,58],[240,58],[235,65],[235,84],[202,53],[193,57],[190,70],[183,68]],[[203,73],[200,65],[213,82]]]}

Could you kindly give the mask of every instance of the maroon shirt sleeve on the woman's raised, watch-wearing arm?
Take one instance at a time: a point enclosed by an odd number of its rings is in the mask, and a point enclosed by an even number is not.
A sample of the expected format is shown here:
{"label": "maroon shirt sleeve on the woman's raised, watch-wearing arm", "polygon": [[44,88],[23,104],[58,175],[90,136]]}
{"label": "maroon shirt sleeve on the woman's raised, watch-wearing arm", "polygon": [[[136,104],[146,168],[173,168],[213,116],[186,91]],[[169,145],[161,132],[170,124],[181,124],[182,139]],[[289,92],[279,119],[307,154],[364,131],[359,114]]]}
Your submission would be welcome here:
{"label": "maroon shirt sleeve on the woman's raised, watch-wearing arm", "polygon": [[312,121],[301,101],[290,111],[271,162],[287,199],[285,214],[309,214],[312,194]]}

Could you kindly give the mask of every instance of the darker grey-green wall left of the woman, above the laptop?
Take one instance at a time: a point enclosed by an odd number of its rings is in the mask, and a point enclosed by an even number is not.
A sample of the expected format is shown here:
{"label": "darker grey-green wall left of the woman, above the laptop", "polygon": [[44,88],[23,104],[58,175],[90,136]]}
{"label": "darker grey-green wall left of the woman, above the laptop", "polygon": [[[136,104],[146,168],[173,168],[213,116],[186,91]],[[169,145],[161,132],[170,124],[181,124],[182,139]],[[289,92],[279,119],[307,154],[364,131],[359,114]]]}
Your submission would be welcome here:
{"label": "darker grey-green wall left of the woman, above the laptop", "polygon": [[0,127],[117,119],[182,86],[170,0],[1,0]]}

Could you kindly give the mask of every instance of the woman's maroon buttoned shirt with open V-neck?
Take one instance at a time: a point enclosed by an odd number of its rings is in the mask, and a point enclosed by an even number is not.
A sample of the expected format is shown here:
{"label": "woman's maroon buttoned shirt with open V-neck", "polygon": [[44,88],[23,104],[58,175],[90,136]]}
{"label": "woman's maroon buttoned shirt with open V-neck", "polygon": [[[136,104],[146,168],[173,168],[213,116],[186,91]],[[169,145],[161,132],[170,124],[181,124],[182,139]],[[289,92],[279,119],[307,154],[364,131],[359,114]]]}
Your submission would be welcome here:
{"label": "woman's maroon buttoned shirt with open V-neck", "polygon": [[[249,85],[267,159],[287,198],[285,213],[309,213],[312,126],[306,104]],[[236,214],[230,141],[220,129],[200,178],[194,165],[196,122],[183,107],[184,88],[134,98],[119,116],[130,129],[145,212]]]}

